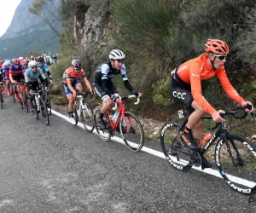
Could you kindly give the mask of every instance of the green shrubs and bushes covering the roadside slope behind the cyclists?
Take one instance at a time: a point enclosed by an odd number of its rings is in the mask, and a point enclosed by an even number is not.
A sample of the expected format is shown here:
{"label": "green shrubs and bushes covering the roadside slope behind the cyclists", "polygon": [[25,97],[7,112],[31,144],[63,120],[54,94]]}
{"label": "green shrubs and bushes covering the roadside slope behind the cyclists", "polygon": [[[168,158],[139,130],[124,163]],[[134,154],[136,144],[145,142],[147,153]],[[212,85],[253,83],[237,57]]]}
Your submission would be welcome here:
{"label": "green shrubs and bushes covering the roadside slope behind the cyclists", "polygon": [[[68,60],[73,55],[81,55],[80,60],[88,61],[83,49],[74,39],[73,20],[75,15],[78,17],[86,13],[89,7],[98,9],[100,2],[60,0],[59,17],[64,28],[61,54],[67,59],[65,66],[66,63],[70,65]],[[256,86],[250,84],[256,73],[256,5],[253,0],[110,2],[108,21],[111,26],[115,26],[115,30],[110,32],[113,42],[96,55],[96,62],[93,64],[100,64],[102,60],[99,59],[106,59],[109,50],[113,48],[124,50],[129,79],[144,93],[144,108],[151,106],[157,111],[162,110],[162,107],[173,106],[168,91],[170,72],[183,61],[201,55],[209,37],[222,39],[230,46],[225,67],[231,83],[241,95],[255,93]],[[96,66],[90,67],[90,71],[96,70]],[[57,74],[58,78],[61,78],[63,68],[56,68],[60,72]],[[115,81],[122,90],[123,83],[119,79]],[[214,107],[230,102],[216,78],[203,83],[203,87],[204,95]]]}

